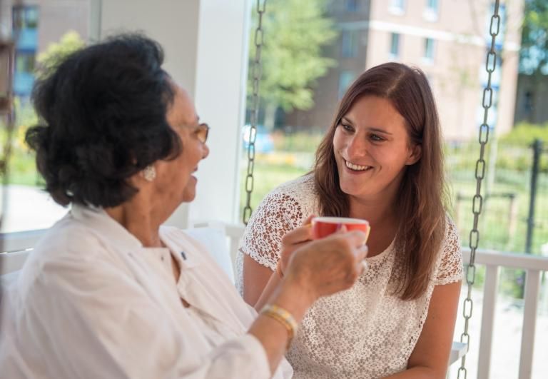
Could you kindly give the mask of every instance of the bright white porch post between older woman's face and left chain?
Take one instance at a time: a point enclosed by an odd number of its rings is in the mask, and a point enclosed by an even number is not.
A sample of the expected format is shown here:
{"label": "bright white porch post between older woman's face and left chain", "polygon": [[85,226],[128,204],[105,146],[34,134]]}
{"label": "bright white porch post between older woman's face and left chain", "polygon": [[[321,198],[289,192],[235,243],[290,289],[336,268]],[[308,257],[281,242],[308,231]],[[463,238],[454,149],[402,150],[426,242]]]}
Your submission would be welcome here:
{"label": "bright white porch post between older woman's face and left chain", "polygon": [[191,221],[237,221],[245,111],[250,1],[201,0],[196,108],[209,123],[210,154],[200,163]]}

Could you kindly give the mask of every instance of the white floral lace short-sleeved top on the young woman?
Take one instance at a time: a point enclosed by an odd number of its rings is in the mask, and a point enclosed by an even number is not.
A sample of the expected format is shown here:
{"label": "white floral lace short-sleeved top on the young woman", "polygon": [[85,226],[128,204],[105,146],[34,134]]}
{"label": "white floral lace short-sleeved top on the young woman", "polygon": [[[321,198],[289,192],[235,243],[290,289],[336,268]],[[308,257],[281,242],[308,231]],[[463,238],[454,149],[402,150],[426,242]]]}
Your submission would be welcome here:
{"label": "white floral lace short-sleeved top on the young woman", "polygon": [[[313,176],[283,184],[265,197],[250,218],[238,252],[237,286],[243,293],[243,253],[274,270],[281,237],[311,213],[318,214]],[[375,233],[375,231],[372,231]],[[300,325],[287,358],[294,378],[380,378],[405,370],[415,348],[435,285],[460,281],[462,255],[455,225],[447,218],[445,240],[433,280],[417,300],[392,295],[394,243],[372,258],[357,283],[320,298]]]}

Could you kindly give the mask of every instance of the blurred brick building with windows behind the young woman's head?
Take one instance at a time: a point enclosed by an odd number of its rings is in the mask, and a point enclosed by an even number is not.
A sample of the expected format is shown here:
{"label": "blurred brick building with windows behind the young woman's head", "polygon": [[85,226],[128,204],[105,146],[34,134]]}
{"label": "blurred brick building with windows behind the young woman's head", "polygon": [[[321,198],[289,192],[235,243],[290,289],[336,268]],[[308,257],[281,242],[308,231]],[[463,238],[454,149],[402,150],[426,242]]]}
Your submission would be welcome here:
{"label": "blurred brick building with windows behind the young woman's head", "polygon": [[[489,126],[496,125],[497,133],[509,131],[514,122],[523,7],[522,1],[501,3],[500,59],[492,75],[494,104],[489,118]],[[494,1],[486,0],[332,1],[329,14],[340,34],[326,54],[338,65],[318,81],[315,108],[290,113],[286,123],[327,128],[342,94],[359,74],[383,62],[399,61],[425,71],[445,139],[475,138],[483,116],[493,6]]]}

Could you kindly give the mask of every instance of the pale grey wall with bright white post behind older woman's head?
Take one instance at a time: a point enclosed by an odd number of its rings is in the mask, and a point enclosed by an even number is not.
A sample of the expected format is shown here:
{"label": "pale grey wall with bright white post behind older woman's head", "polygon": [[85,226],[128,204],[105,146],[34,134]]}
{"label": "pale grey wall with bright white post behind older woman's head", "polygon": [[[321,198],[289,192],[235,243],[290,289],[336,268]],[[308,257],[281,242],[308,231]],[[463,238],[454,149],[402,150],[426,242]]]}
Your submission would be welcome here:
{"label": "pale grey wall with bright white post behind older woman's head", "polygon": [[168,223],[233,222],[238,212],[238,161],[243,124],[250,0],[103,0],[101,38],[143,31],[160,42],[164,65],[195,99],[210,124],[209,157],[200,163],[198,196]]}

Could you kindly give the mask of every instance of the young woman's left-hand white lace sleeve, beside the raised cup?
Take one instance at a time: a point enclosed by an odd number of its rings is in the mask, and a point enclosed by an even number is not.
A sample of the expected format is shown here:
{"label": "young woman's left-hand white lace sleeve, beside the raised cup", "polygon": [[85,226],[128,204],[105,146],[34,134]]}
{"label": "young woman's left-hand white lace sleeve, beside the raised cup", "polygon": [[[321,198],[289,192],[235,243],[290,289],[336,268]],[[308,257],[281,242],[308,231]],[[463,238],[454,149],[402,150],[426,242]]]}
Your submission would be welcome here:
{"label": "young woman's left-hand white lace sleeve, beside the raised cup", "polygon": [[274,271],[280,259],[282,237],[300,225],[300,203],[286,193],[269,193],[251,216],[242,236],[238,255],[247,254],[254,261]]}

